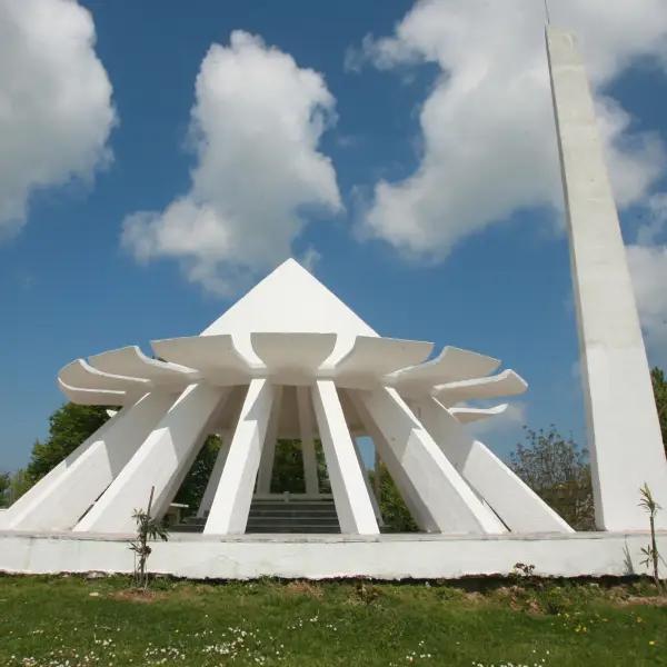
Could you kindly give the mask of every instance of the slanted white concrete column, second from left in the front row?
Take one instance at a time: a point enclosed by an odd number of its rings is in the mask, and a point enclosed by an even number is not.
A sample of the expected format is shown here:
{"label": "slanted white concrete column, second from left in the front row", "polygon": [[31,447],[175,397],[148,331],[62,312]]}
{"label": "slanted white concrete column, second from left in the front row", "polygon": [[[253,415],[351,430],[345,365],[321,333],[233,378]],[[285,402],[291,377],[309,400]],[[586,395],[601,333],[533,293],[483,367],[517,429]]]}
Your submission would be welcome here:
{"label": "slanted white concrete column, second from left in the front row", "polygon": [[74,530],[133,531],[132,512],[146,508],[152,486],[156,490],[151,515],[161,517],[229,391],[205,384],[190,385]]}

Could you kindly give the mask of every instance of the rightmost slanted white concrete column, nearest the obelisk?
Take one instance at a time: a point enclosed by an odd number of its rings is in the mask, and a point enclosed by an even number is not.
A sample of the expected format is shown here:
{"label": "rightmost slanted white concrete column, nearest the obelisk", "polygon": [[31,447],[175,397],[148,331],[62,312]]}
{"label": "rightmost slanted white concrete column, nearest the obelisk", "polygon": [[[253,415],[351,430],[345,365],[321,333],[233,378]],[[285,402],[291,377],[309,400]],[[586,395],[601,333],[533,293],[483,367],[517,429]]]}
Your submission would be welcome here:
{"label": "rightmost slanted white concrete column, nearest the obelisk", "polygon": [[435,398],[418,401],[415,414],[464,479],[510,530],[574,532],[566,521],[490,449],[475,440]]}

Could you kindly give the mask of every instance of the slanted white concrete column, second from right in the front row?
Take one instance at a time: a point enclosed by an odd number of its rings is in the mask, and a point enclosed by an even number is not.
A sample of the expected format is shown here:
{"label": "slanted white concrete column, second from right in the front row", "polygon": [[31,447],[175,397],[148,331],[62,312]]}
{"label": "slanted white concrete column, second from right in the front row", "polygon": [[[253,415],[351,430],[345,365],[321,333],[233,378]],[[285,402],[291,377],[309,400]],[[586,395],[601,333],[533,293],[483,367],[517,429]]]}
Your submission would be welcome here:
{"label": "slanted white concrete column, second from right in the front row", "polygon": [[447,460],[396,389],[350,390],[404,499],[425,530],[506,532]]}

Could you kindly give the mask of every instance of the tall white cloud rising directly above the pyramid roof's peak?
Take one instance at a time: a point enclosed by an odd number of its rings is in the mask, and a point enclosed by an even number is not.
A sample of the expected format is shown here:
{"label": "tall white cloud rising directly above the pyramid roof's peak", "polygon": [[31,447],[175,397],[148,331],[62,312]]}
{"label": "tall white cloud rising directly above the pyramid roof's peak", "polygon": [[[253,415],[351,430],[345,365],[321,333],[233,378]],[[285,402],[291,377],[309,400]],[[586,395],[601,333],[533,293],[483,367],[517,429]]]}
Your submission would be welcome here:
{"label": "tall white cloud rising directly above the pyramid roof's peak", "polygon": [[162,211],[126,218],[122,243],[139,260],[178,259],[216,292],[291,253],[303,208],[340,209],[336,173],[318,152],[335,121],[323,78],[259,37],[213,44],[197,77],[188,193]]}

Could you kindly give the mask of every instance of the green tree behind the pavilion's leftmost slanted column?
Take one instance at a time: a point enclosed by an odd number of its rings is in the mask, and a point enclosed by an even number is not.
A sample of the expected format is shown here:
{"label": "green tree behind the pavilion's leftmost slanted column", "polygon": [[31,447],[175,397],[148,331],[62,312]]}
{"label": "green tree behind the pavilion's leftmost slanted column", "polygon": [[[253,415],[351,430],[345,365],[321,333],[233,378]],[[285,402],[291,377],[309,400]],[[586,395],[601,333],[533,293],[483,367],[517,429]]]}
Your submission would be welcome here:
{"label": "green tree behind the pavilion's leftmost slanted column", "polygon": [[32,447],[27,472],[32,482],[41,479],[109,419],[102,406],[66,404],[49,417],[49,437]]}

